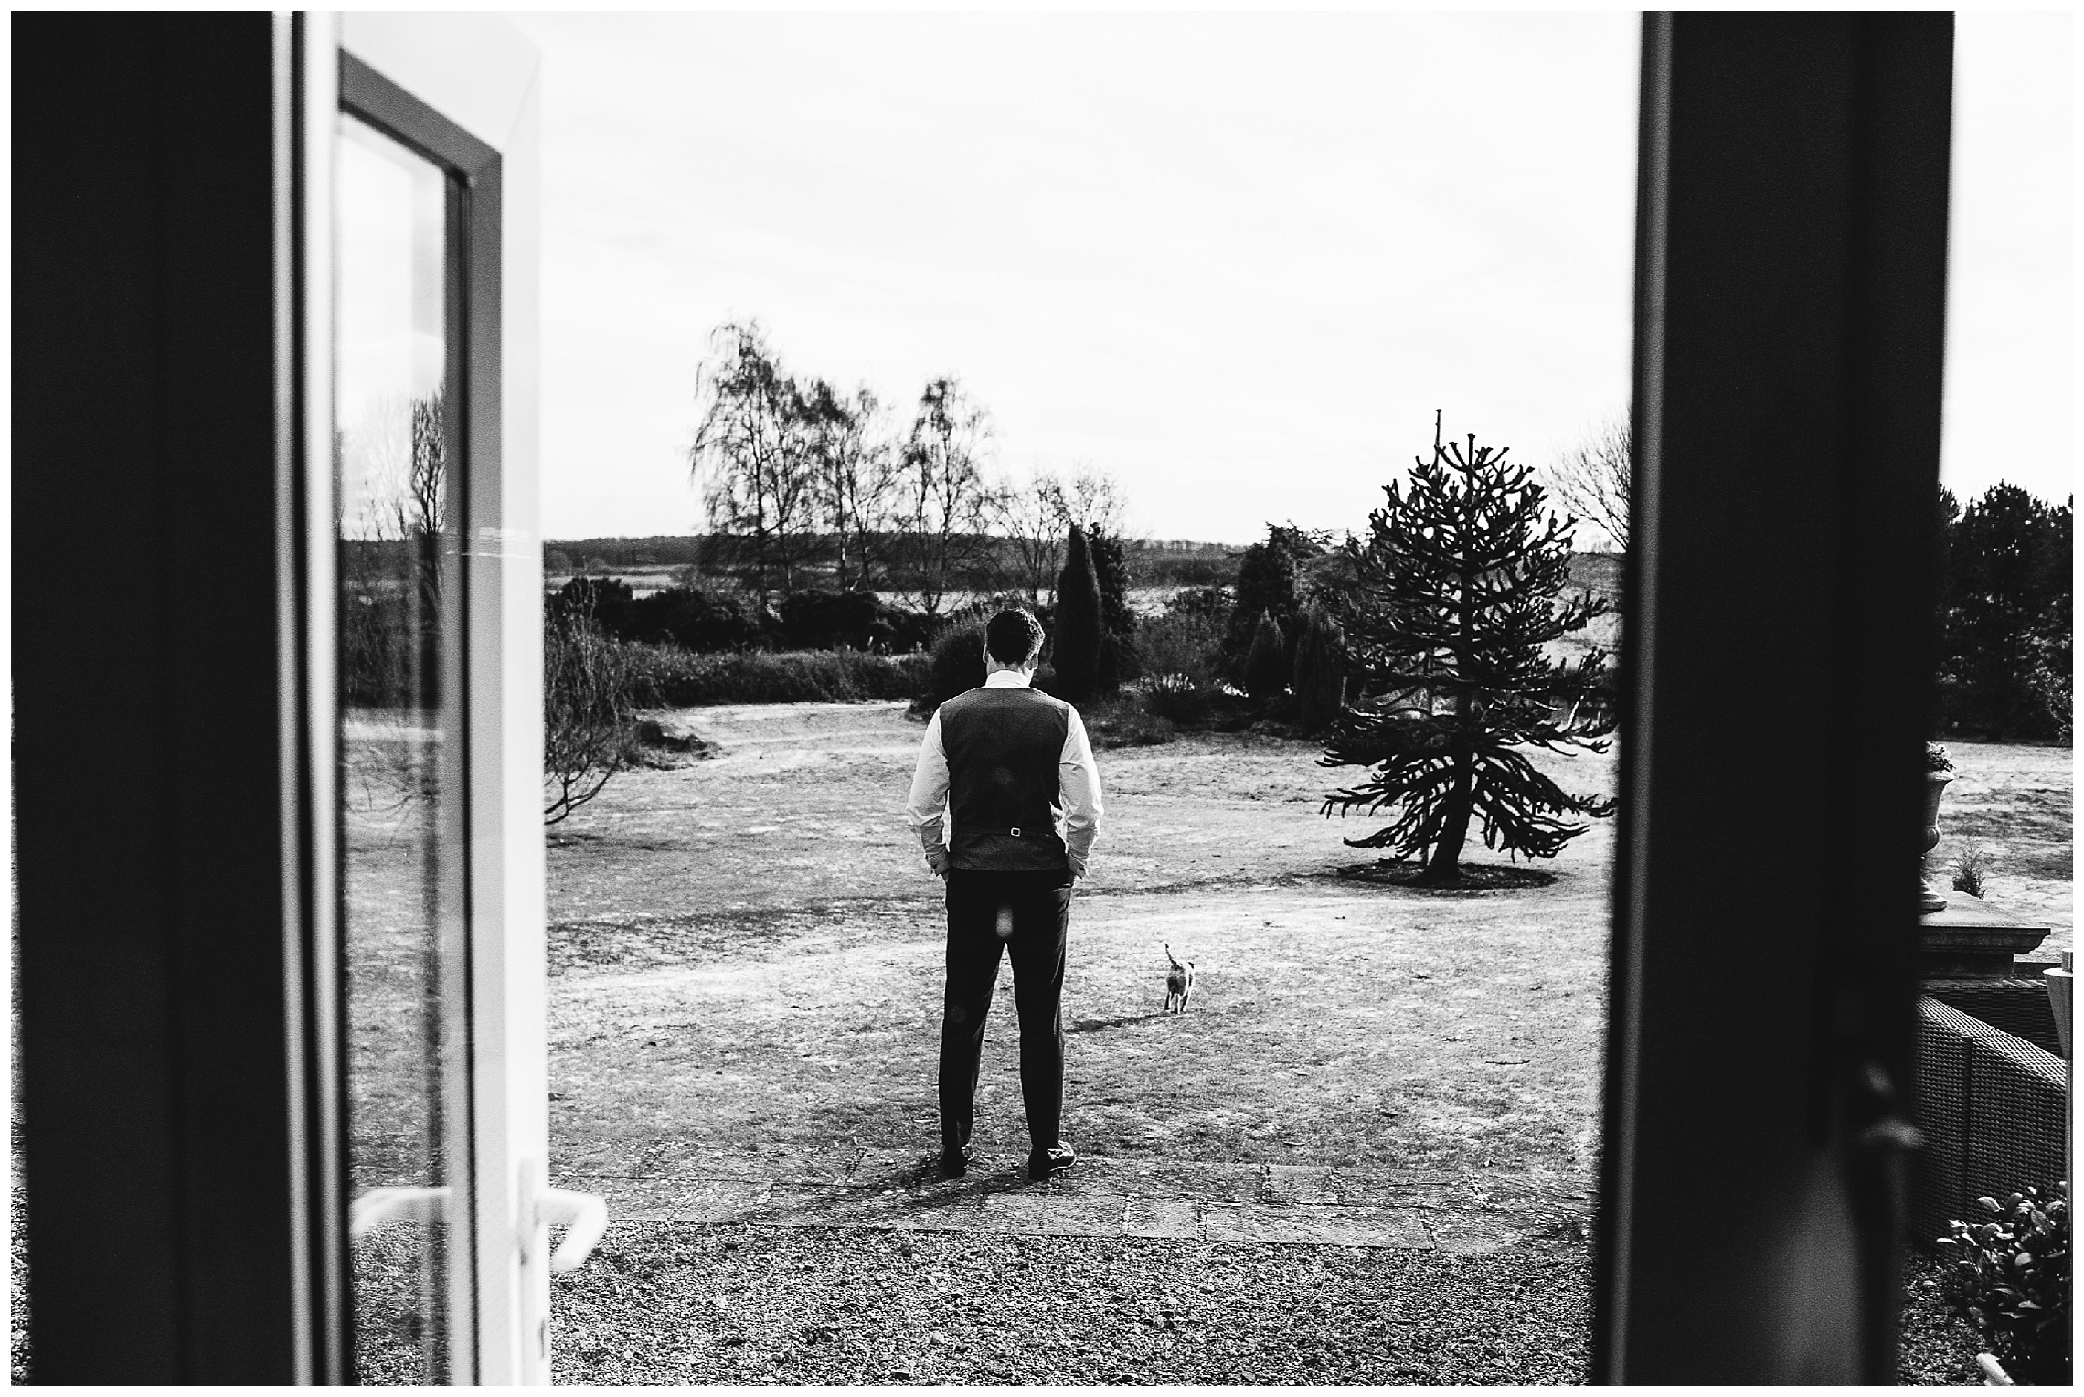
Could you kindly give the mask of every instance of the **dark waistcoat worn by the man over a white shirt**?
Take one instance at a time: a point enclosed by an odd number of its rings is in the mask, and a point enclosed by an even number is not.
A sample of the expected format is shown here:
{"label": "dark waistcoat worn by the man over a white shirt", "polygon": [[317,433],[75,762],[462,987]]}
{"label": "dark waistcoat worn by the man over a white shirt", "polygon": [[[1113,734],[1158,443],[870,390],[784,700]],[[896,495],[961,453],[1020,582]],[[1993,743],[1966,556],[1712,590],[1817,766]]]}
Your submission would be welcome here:
{"label": "dark waistcoat worn by the man over a white shirt", "polygon": [[973,688],[940,705],[948,755],[948,861],[982,872],[1067,867],[1057,836],[1071,705],[1034,688]]}

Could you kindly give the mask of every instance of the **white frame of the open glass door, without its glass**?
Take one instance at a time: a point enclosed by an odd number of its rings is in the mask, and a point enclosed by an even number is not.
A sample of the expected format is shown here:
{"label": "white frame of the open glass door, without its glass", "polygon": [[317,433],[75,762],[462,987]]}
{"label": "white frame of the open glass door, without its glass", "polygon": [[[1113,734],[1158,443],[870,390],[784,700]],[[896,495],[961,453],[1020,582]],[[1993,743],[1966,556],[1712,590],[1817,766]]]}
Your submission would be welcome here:
{"label": "white frame of the open glass door, without its glass", "polygon": [[[469,995],[444,997],[444,1015],[469,1045],[471,1218],[450,1218],[458,1274],[452,1382],[548,1382],[548,1084],[544,1028],[542,853],[542,544],[538,532],[538,240],[540,58],[511,25],[488,15],[313,17],[304,46],[306,158],[329,171],[340,56],[356,60],[440,113],[492,152],[498,179],[473,217],[496,219],[496,284],[471,286],[471,338],[496,317],[496,373],[467,386],[463,553],[463,682],[467,799],[444,819],[444,844],[465,855]],[[306,227],[331,227],[331,183],[306,183]],[[494,204],[496,206],[490,206]],[[323,231],[319,234],[323,236]],[[329,252],[329,250],[327,250]],[[492,259],[481,259],[483,263]],[[329,267],[329,259],[317,267]],[[315,277],[317,279],[317,277]],[[325,288],[329,294],[329,286]],[[308,361],[323,365],[329,396],[327,317],[311,319]],[[481,350],[479,350],[481,352]],[[317,388],[317,384],[315,384]],[[490,392],[488,392],[490,390]],[[317,405],[319,398],[313,398]],[[327,434],[329,413],[313,430]],[[315,442],[317,446],[317,442]],[[317,525],[319,521],[313,521]],[[331,511],[323,519],[331,550]],[[327,596],[323,605],[331,605]],[[467,1270],[461,1270],[465,1268]],[[461,1303],[458,1303],[461,1301]],[[469,1316],[469,1318],[467,1318]]]}

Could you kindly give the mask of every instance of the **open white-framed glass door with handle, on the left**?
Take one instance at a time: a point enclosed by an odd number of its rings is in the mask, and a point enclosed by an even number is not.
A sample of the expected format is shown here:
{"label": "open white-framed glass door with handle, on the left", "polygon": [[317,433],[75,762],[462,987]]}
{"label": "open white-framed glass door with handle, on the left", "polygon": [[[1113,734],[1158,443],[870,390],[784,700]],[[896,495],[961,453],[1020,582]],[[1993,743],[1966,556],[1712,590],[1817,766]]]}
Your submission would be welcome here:
{"label": "open white-framed glass door with handle, on the left", "polygon": [[544,1186],[536,54],[479,17],[333,23],[304,67],[331,267],[306,323],[354,1372],[544,1382],[548,1272],[604,1214]]}

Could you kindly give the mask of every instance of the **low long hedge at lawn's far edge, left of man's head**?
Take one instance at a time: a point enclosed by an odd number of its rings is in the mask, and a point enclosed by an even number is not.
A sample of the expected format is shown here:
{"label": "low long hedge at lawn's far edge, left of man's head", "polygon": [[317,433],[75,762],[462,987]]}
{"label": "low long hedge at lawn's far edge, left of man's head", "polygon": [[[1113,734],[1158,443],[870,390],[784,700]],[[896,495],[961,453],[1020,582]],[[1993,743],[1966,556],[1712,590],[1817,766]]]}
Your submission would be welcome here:
{"label": "low long hedge at lawn's far edge, left of man's head", "polygon": [[646,707],[698,703],[867,703],[911,698],[925,684],[923,655],[861,651],[746,651],[694,655],[631,646],[634,690]]}

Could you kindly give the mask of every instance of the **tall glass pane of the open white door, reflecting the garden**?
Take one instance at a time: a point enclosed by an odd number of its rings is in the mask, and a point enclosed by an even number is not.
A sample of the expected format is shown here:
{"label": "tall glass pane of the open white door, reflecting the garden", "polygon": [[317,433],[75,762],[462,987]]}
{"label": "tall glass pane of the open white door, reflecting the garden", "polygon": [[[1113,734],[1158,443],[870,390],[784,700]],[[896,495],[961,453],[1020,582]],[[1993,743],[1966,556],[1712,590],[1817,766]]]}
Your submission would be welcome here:
{"label": "tall glass pane of the open white door, reflecting the garden", "polygon": [[[352,117],[338,146],[340,753],[352,1193],[444,1188],[458,1168],[461,915],[444,623],[454,578],[444,384],[448,177]],[[454,849],[454,844],[450,844]],[[467,1138],[467,1136],[456,1136]],[[402,1195],[386,1195],[404,1201]],[[440,1197],[354,1241],[361,1380],[440,1382],[458,1320]]]}

